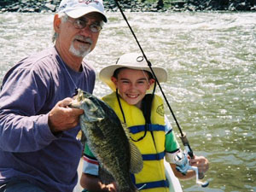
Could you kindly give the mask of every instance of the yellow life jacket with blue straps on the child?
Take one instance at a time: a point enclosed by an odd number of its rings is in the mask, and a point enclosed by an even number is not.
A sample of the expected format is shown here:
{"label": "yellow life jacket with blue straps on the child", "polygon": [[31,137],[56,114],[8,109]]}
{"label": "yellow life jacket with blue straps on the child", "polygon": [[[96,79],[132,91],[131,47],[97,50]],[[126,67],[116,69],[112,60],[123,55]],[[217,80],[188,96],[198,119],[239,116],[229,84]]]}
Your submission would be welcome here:
{"label": "yellow life jacket with blue straps on the child", "polygon": [[[102,98],[104,102],[113,108],[121,122],[124,117],[119,107],[116,93],[113,92]],[[129,105],[122,98],[119,98],[121,108],[125,115],[126,125],[129,129],[133,141],[137,141],[144,136],[145,118],[143,111],[136,106]],[[168,182],[165,175],[164,156],[165,156],[165,118],[163,101],[160,96],[154,95],[151,110],[151,124],[143,139],[133,142],[143,154],[143,170],[132,175],[137,188],[144,187],[140,191],[145,192],[167,192]]]}

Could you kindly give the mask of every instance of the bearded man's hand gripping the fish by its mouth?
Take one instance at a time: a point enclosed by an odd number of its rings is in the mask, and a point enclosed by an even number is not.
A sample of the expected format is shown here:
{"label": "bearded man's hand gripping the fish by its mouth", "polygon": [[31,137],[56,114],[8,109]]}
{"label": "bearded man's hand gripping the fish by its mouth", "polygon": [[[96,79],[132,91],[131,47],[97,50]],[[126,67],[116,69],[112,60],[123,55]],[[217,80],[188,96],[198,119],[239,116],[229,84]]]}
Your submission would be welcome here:
{"label": "bearded man's hand gripping the fish by its mouth", "polygon": [[73,101],[72,98],[65,98],[57,102],[55,107],[49,111],[49,129],[53,133],[67,131],[79,124],[79,115],[84,113],[83,109],[68,108]]}

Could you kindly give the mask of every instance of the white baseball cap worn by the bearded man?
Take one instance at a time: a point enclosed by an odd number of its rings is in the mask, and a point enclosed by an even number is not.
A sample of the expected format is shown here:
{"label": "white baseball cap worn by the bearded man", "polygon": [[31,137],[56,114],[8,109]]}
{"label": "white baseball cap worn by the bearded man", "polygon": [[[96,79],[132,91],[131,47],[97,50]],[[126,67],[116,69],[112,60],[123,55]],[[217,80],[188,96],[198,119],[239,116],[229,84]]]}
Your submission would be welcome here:
{"label": "white baseball cap worn by the bearded man", "polygon": [[102,0],[62,0],[58,10],[58,13],[65,13],[74,19],[91,12],[101,14],[104,22],[108,21]]}

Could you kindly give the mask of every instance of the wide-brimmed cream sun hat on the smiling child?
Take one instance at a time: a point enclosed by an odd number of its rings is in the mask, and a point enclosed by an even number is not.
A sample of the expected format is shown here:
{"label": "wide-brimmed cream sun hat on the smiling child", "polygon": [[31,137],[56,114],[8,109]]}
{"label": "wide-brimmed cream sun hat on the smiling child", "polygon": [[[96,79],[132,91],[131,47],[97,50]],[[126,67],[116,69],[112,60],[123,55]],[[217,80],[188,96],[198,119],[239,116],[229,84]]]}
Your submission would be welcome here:
{"label": "wide-brimmed cream sun hat on the smiling child", "polygon": [[[148,67],[148,63],[143,57],[142,54],[137,53],[129,53],[122,55],[115,65],[110,65],[107,67],[103,67],[99,73],[99,78],[112,90],[116,90],[115,85],[113,84],[111,77],[113,76],[113,72],[118,68],[131,68],[137,70],[144,70],[151,73],[150,68]],[[166,69],[162,67],[152,67],[154,74],[159,82],[166,82],[167,80],[167,72]]]}

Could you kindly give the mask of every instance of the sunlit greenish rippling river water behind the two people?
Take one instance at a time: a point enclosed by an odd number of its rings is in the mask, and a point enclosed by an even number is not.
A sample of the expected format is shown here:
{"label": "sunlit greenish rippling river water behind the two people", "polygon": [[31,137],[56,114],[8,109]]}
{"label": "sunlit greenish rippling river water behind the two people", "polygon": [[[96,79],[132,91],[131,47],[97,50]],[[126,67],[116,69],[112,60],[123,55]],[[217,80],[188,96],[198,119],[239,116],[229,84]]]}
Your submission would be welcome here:
{"label": "sunlit greenish rippling river water behind the two people", "polygon": [[[139,51],[120,13],[107,15],[88,55],[97,73]],[[161,85],[195,154],[210,161],[209,186],[192,179],[181,182],[183,191],[256,191],[256,13],[125,15],[148,60],[168,71]],[[0,14],[0,81],[17,61],[52,45],[52,20],[52,14]],[[95,95],[109,92],[97,79]]]}

